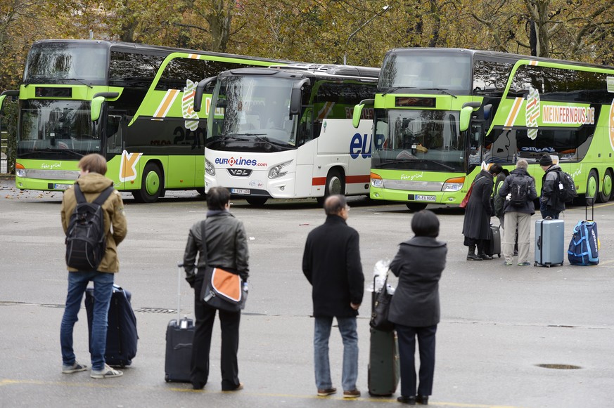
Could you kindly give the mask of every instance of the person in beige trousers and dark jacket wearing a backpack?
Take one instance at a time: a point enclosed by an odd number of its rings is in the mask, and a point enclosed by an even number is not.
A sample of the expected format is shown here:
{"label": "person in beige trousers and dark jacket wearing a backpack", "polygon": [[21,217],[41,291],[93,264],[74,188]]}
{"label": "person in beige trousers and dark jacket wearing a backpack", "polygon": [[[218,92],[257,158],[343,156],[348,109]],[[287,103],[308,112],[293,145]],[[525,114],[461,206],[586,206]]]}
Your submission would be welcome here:
{"label": "person in beige trousers and dark jacket wearing a backpack", "polygon": [[[501,250],[505,257],[504,265],[512,265],[514,235],[518,228],[518,265],[531,265],[529,262],[530,235],[531,235],[531,216],[535,214],[535,204],[533,200],[537,198],[535,191],[535,179],[527,172],[529,164],[525,159],[520,159],[516,163],[516,169],[506,177],[503,187],[499,190],[499,195],[505,197],[504,213],[505,228],[503,230],[503,245]],[[516,194],[512,190],[518,190],[518,186],[523,185],[522,194],[524,199],[516,202]]]}

